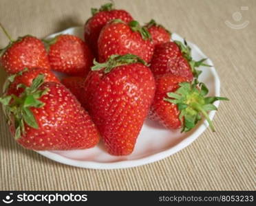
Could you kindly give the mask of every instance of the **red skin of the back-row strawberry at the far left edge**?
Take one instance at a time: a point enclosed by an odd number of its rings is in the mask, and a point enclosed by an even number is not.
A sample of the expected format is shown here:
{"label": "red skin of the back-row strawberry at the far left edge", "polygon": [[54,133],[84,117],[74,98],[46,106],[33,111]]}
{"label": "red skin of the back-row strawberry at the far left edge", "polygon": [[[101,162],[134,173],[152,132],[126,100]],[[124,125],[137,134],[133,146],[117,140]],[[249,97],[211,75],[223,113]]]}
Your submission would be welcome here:
{"label": "red skin of the back-row strawberry at the far left edge", "polygon": [[43,42],[33,36],[24,36],[12,43],[1,56],[0,62],[9,74],[22,71],[25,67],[50,69]]}

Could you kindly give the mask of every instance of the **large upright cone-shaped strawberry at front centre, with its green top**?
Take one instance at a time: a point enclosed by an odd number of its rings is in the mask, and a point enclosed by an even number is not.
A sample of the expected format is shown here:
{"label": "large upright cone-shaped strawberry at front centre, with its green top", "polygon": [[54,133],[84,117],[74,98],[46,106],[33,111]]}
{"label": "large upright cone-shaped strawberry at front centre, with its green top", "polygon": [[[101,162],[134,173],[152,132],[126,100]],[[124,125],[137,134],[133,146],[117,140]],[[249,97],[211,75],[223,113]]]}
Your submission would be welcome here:
{"label": "large upright cone-shaped strawberry at front centre, with its green top", "polygon": [[131,54],[95,62],[92,70],[85,80],[87,110],[109,154],[129,155],[153,100],[153,75]]}

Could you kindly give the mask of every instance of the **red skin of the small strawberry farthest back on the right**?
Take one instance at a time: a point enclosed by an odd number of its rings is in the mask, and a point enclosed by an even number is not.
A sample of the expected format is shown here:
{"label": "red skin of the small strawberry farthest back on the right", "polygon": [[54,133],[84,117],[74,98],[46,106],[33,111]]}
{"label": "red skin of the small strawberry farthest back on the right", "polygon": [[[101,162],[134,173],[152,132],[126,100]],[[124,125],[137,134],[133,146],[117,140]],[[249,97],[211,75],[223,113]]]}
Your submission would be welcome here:
{"label": "red skin of the small strawberry farthest back on the right", "polygon": [[160,45],[162,43],[167,43],[171,39],[171,34],[164,29],[164,27],[153,25],[148,27],[149,33],[153,41],[153,45]]}

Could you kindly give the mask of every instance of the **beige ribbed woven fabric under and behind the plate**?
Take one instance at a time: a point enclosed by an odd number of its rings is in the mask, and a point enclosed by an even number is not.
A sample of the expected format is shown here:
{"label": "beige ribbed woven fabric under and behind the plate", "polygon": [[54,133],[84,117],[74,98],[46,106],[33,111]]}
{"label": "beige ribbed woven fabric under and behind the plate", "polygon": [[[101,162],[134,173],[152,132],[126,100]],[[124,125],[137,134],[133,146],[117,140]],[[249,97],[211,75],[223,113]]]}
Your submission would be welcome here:
{"label": "beige ribbed woven fabric under and behind the plate", "polygon": [[[0,21],[14,38],[40,38],[83,25],[98,0],[0,0]],[[241,10],[248,6],[248,10]],[[255,190],[256,1],[116,0],[141,23],[152,17],[198,45],[221,78],[222,102],[191,146],[162,161],[124,170],[74,168],[18,146],[0,111],[0,190]],[[232,19],[234,12],[242,20]],[[239,19],[236,13],[234,18]],[[234,24],[250,21],[241,30]],[[0,47],[8,40],[0,33]],[[6,74],[0,71],[0,87]]]}

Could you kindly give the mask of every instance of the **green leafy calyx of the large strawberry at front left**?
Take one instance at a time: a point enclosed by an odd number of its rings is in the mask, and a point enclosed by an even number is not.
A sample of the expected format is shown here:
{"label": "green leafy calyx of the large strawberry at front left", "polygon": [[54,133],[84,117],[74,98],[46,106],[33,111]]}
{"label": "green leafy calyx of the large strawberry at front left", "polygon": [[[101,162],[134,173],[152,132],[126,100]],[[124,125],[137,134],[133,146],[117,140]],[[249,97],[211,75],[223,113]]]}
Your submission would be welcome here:
{"label": "green leafy calyx of the large strawberry at front left", "polygon": [[[12,79],[13,78],[8,78],[10,81],[12,81]],[[30,87],[26,87],[24,84],[17,85],[17,89],[24,89],[19,96],[14,94],[7,95],[7,93],[5,93],[0,98],[0,102],[3,104],[3,111],[8,119],[8,124],[10,125],[11,122],[14,122],[15,139],[19,139],[21,135],[25,134],[25,124],[28,124],[28,126],[32,128],[39,128],[30,108],[41,108],[45,105],[45,103],[39,100],[41,96],[49,91],[49,89],[39,89],[43,82],[44,75],[39,74],[39,76],[34,78]]]}

